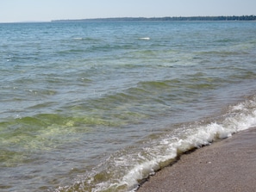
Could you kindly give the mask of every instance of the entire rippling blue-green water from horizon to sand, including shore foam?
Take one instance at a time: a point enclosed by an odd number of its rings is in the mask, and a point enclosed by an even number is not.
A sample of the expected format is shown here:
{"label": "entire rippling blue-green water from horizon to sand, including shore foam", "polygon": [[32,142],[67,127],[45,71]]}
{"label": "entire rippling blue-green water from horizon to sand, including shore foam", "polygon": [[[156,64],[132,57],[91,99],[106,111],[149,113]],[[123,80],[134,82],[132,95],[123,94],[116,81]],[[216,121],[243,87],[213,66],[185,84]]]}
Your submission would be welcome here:
{"label": "entire rippling blue-green water from horizon to sand, including shore foam", "polygon": [[255,22],[0,24],[1,191],[131,191],[256,125]]}

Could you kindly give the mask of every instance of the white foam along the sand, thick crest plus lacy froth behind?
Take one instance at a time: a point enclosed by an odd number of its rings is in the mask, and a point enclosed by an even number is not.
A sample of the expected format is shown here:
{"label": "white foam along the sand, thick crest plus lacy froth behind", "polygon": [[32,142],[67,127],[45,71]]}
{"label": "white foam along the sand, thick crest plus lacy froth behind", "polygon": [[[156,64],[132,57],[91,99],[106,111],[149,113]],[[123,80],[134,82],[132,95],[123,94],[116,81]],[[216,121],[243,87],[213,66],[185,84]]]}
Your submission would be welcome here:
{"label": "white foam along the sand, thick crest plus lacy froth behind", "polygon": [[[120,153],[110,161],[116,167],[115,179],[97,183],[91,191],[125,189],[135,191],[140,182],[155,171],[170,164],[177,156],[195,147],[209,145],[215,139],[232,136],[233,133],[256,126],[256,97],[241,102],[217,120],[180,127],[175,133],[153,139],[137,154]],[[109,161],[108,161],[109,164]]]}

